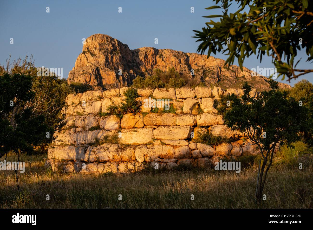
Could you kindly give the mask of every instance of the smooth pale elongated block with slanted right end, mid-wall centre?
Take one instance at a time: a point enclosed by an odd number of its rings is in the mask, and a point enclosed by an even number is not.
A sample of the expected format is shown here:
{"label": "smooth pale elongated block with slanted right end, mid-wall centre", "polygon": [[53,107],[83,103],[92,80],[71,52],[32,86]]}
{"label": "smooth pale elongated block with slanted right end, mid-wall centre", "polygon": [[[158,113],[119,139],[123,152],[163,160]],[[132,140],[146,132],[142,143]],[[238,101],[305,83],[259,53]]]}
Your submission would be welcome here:
{"label": "smooth pale elongated block with slanted right end, mid-wall centre", "polygon": [[185,140],[190,132],[190,126],[160,126],[153,130],[153,135],[159,140]]}

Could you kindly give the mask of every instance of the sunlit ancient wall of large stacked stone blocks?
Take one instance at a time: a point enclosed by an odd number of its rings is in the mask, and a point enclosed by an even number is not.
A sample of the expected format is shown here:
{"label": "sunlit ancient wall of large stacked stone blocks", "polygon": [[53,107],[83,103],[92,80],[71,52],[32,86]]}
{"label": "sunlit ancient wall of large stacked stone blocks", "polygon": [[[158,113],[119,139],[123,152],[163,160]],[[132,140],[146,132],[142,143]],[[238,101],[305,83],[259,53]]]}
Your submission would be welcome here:
{"label": "sunlit ancient wall of large stacked stone blocks", "polygon": [[[145,166],[171,169],[181,164],[210,167],[222,157],[237,159],[258,152],[249,141],[243,142],[242,134],[228,129],[214,108],[214,100],[220,95],[242,95],[241,89],[137,89],[140,97],[136,100],[143,102],[141,113],[125,114],[122,119],[101,116],[109,105],[125,100],[126,89],[69,95],[63,108],[68,122],[49,147],[46,165],[53,171],[81,173],[128,172]],[[258,95],[255,90],[251,94]],[[175,111],[152,113],[145,106],[149,98],[169,99]],[[234,141],[217,146],[196,143],[198,133],[207,130]],[[101,142],[113,137],[114,143]]]}

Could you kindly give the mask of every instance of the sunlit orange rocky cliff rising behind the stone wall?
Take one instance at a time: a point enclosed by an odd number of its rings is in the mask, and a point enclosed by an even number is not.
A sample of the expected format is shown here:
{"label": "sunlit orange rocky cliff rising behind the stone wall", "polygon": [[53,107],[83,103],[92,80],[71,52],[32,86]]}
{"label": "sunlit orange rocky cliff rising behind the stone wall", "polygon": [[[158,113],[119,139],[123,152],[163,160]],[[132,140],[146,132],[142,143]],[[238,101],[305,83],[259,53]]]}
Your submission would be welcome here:
{"label": "sunlit orange rocky cliff rising behind the stone wall", "polygon": [[[112,89],[129,86],[140,75],[152,74],[153,69],[166,71],[174,67],[185,79],[187,86],[203,82],[206,86],[222,89],[241,88],[244,81],[254,83],[260,91],[269,88],[263,76],[251,76],[251,70],[238,66],[224,68],[225,61],[196,53],[183,53],[172,49],[142,47],[131,50],[105,34],[94,34],[86,39],[83,52],[78,56],[74,68],[69,72],[68,83],[90,84],[95,89]],[[194,76],[190,70],[194,70]],[[121,70],[121,75],[119,75]],[[288,84],[280,84],[290,88]]]}

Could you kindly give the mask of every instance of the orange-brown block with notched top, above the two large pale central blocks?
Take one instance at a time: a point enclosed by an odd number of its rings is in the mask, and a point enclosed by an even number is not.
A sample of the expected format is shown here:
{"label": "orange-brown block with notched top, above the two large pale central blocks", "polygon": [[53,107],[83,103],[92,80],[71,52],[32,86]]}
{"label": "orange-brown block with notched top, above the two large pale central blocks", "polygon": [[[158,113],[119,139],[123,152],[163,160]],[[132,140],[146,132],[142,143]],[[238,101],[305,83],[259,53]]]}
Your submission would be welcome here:
{"label": "orange-brown block with notched top, above the two large pale central blocks", "polygon": [[176,116],[172,113],[165,113],[161,116],[156,113],[149,113],[143,118],[145,125],[163,125],[172,126],[176,125]]}

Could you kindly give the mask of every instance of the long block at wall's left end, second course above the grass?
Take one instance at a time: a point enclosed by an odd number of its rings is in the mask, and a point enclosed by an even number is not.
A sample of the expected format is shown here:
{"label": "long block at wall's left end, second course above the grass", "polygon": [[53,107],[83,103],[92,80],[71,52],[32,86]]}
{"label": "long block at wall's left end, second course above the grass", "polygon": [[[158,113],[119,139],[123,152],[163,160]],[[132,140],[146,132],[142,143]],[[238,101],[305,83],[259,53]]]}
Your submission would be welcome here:
{"label": "long block at wall's left end, second course above the grass", "polygon": [[82,161],[85,157],[85,147],[55,146],[48,149],[48,159]]}

